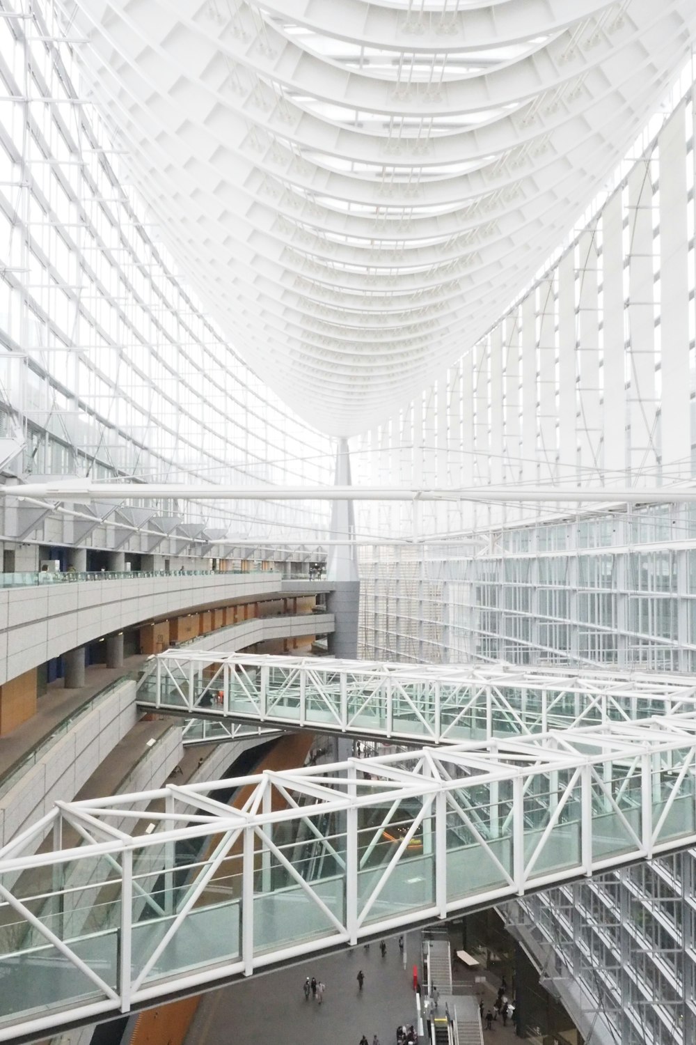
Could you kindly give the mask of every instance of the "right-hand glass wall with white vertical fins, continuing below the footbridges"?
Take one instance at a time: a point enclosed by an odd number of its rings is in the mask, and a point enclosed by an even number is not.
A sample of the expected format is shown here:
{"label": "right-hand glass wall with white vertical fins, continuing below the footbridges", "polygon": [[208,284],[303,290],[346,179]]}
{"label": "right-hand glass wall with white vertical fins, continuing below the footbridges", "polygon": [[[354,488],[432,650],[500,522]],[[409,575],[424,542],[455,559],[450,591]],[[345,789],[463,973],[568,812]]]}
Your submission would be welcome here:
{"label": "right-hand glass wall with white vertical fins, continuing below the footbridges", "polygon": [[[609,508],[363,511],[425,539],[362,550],[363,655],[696,670],[694,506],[610,493],[694,477],[695,274],[692,63],[534,285],[356,454],[366,482],[603,485]],[[695,881],[688,852],[501,913],[590,1040],[599,1013],[621,1045],[692,1045]]]}

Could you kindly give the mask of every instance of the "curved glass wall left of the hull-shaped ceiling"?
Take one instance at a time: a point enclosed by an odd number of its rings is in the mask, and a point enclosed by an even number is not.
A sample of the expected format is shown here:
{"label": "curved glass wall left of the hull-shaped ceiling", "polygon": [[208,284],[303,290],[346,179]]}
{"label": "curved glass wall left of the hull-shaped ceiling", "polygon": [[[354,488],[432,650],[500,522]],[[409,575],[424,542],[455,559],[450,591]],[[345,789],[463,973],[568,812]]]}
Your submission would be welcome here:
{"label": "curved glass wall left of the hull-shaped ceiling", "polygon": [[[329,440],[242,362],[161,246],[118,139],[82,96],[77,40],[59,5],[2,6],[0,437],[22,444],[13,469],[329,481]],[[179,514],[226,526],[223,506],[193,503]],[[241,503],[235,518],[253,536],[325,524],[321,509],[272,502]]]}

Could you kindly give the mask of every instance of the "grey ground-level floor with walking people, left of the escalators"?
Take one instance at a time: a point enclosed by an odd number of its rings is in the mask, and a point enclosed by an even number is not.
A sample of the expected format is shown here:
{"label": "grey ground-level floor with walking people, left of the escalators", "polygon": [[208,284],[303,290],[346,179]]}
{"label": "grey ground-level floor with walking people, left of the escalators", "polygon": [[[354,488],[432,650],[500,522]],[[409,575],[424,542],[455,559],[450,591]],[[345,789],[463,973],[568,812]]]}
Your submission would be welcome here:
{"label": "grey ground-level floor with walking people, left of the escalators", "polygon": [[[397,1024],[415,1024],[411,967],[418,960],[419,933],[407,934],[406,969],[397,937],[321,957],[267,975],[257,975],[207,995],[186,1045],[395,1045]],[[409,955],[410,952],[410,955]],[[365,983],[358,991],[362,969]],[[303,983],[315,976],[327,984],[323,1003],[305,1001]]]}

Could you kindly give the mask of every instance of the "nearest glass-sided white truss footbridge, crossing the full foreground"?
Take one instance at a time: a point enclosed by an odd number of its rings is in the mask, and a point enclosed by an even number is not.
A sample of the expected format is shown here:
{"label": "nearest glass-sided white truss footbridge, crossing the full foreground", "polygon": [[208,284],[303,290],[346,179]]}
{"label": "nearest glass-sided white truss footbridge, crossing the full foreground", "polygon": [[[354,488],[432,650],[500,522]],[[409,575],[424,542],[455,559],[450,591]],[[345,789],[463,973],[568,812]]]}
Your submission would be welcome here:
{"label": "nearest glass-sided white truss footbridge, crossing the full foreground", "polygon": [[682,712],[57,804],[0,851],[0,1040],[693,845],[695,754]]}

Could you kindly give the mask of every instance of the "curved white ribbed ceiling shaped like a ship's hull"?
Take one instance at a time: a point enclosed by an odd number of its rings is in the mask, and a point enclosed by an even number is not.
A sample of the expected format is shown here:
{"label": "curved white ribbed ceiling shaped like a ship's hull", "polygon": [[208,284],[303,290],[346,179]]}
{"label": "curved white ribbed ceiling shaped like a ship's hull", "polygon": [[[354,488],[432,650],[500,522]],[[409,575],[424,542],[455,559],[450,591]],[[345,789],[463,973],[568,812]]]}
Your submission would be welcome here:
{"label": "curved white ribbed ceiling shaped like a ship's hull", "polygon": [[493,324],[639,133],[694,0],[66,0],[183,270],[353,435]]}

